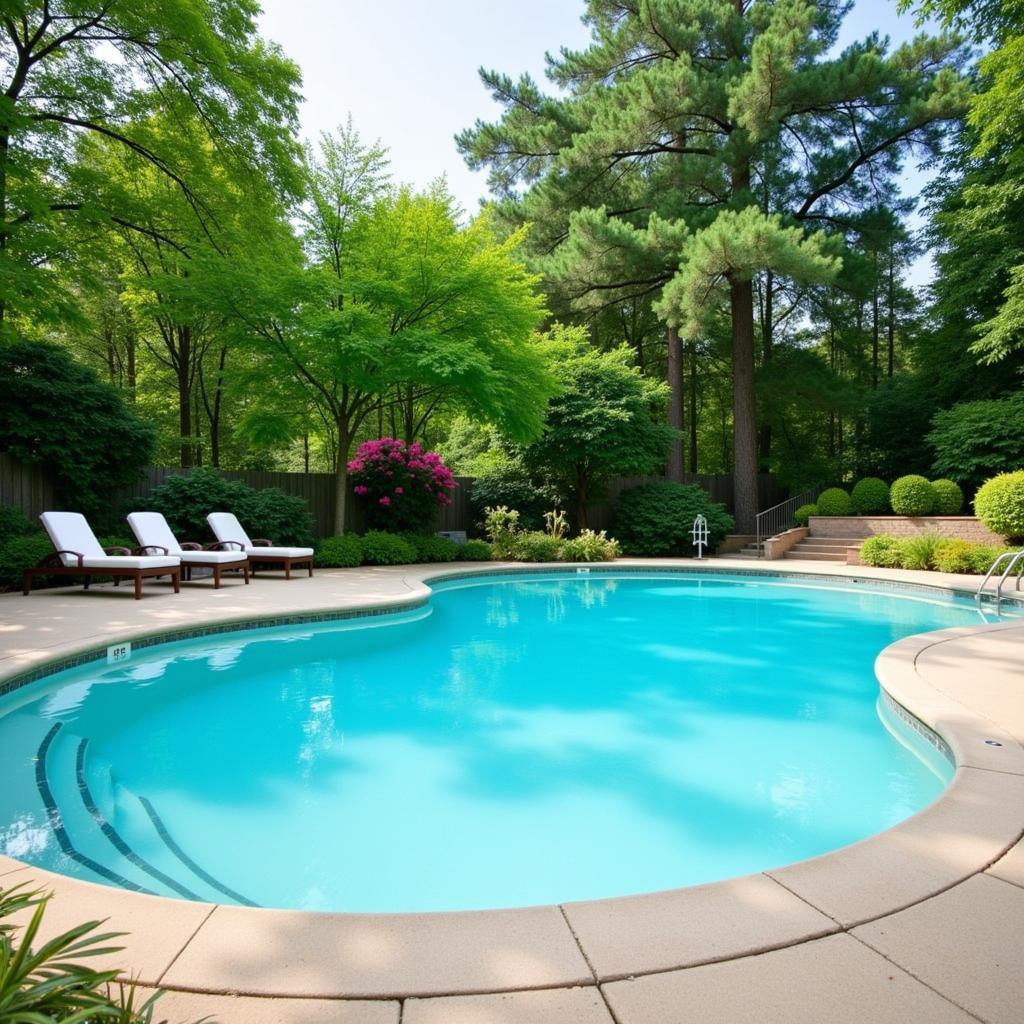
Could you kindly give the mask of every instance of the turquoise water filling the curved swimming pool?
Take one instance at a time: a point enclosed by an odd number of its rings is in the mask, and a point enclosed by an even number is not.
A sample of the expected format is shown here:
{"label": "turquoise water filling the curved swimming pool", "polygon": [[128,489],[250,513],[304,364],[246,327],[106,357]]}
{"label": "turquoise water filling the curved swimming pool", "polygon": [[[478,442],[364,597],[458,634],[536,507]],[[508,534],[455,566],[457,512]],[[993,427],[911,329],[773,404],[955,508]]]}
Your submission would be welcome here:
{"label": "turquoise water filling the curved swimming pool", "polygon": [[877,654],[969,603],[694,575],[442,584],[410,612],[93,663],[0,701],[0,850],[332,910],[618,896],[810,857],[950,768]]}

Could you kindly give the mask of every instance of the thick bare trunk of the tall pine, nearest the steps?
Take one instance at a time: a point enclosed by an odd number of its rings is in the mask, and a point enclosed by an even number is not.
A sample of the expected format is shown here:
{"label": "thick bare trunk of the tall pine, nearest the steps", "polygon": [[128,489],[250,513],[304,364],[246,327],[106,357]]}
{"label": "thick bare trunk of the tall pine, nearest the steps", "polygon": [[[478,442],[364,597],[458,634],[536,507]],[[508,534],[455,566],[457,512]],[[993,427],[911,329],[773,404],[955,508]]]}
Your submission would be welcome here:
{"label": "thick bare trunk of the tall pine, nearest the steps", "polygon": [[754,286],[730,279],[732,313],[732,479],[737,534],[753,534],[758,514],[758,425],[754,398]]}

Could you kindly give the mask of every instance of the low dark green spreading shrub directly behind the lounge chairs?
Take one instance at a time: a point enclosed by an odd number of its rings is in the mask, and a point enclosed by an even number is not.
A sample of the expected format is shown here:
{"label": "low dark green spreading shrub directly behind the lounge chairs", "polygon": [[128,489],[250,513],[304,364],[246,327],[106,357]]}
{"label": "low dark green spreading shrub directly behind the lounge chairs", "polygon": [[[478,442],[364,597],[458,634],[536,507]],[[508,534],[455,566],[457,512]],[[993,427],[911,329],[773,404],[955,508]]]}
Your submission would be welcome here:
{"label": "low dark green spreading shrub directly behind the lounge chairs", "polygon": [[206,517],[210,512],[233,512],[251,538],[265,537],[274,544],[312,545],[312,516],[301,498],[276,487],[256,490],[237,480],[224,479],[214,469],[194,469],[171,476],[135,508],[162,512],[179,541],[210,538]]}

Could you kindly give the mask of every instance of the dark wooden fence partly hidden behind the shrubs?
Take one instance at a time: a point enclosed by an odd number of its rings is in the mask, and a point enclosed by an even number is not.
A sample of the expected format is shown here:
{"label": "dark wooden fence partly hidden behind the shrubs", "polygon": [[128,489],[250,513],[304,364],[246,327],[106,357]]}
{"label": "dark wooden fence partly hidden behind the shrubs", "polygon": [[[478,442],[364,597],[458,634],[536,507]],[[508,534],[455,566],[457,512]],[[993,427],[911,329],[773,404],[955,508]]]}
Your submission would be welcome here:
{"label": "dark wooden fence partly hidden behind the shrubs", "polygon": [[[96,522],[97,529],[104,532],[123,530],[123,516],[129,510],[133,500],[144,498],[155,487],[160,486],[171,476],[180,476],[187,470],[151,466],[143,470],[136,483],[121,487],[111,495],[108,507],[110,518],[105,522]],[[334,532],[335,479],[331,473],[271,473],[262,470],[222,470],[221,476],[228,480],[239,480],[255,487],[257,490],[266,487],[279,487],[287,495],[303,499],[313,517],[313,530],[317,537],[330,537]],[[606,529],[614,514],[615,500],[627,487],[638,483],[649,483],[664,479],[657,476],[623,477],[614,480],[607,488],[606,497],[591,503],[587,508],[587,516],[593,529]],[[440,509],[437,529],[466,530],[474,532],[475,522],[470,507],[470,484],[472,477],[456,477],[459,486],[452,497],[452,504]],[[733,505],[732,477],[726,475],[687,474],[685,483],[695,483],[703,487],[712,500],[723,503],[731,509]],[[758,507],[767,508],[786,497],[785,488],[770,475],[762,475],[758,479]],[[0,453],[0,504],[19,506],[29,516],[35,519],[46,509],[60,508],[53,483],[42,471],[23,466],[4,453]],[[362,510],[358,503],[348,503],[345,517],[346,529],[359,530],[365,521]]]}

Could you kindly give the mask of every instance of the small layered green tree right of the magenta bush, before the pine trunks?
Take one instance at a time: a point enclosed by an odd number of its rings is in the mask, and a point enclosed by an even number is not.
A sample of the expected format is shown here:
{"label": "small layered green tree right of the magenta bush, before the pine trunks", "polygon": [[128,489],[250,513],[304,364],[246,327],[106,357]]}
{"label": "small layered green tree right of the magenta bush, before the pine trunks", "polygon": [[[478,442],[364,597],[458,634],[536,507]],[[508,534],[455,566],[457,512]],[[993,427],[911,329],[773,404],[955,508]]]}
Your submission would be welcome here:
{"label": "small layered green tree right of the magenta bush, before the pine trunks", "polygon": [[582,529],[587,503],[600,486],[615,476],[659,470],[676,433],[665,422],[668,388],[640,373],[628,345],[598,351],[580,329],[556,329],[553,338],[560,393],[523,461],[571,496]]}

